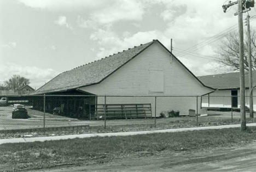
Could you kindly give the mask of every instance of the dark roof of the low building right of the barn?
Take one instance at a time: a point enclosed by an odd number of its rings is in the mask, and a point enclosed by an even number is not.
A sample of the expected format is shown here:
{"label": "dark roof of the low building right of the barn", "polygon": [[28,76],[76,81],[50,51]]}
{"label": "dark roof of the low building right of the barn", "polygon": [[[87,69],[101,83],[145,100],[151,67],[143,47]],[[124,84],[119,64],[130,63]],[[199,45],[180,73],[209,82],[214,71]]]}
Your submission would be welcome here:
{"label": "dark roof of the low building right of the barn", "polygon": [[[200,81],[219,90],[240,89],[239,72],[223,73],[218,75],[199,76]],[[245,87],[248,88],[248,72],[245,72]],[[253,85],[256,85],[256,71],[253,71]]]}

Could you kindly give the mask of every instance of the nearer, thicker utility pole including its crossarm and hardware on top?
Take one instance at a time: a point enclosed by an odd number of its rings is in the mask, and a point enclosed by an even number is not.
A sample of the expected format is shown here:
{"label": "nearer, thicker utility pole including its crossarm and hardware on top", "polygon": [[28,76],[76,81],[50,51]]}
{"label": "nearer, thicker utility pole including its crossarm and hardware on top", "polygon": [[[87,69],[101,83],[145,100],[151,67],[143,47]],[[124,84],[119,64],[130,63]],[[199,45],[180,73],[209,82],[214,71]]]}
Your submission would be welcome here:
{"label": "nearer, thicker utility pole including its crossarm and hardware on top", "polygon": [[238,33],[239,33],[239,67],[240,67],[240,110],[241,110],[241,131],[246,130],[246,111],[245,111],[245,60],[243,51],[243,13],[251,10],[250,7],[254,7],[254,1],[238,0],[236,2],[229,2],[227,5],[223,5],[223,11],[226,13],[226,9],[232,5],[238,5],[238,11],[235,15],[238,15]]}

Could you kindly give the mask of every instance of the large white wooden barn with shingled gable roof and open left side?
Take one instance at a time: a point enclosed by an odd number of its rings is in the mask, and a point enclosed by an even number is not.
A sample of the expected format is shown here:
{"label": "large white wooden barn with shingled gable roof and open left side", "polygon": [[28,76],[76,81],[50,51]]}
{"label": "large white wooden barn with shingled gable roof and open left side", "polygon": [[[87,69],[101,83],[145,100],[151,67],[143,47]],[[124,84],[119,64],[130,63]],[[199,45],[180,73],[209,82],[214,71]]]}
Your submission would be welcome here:
{"label": "large white wooden barn with shingled gable roof and open left side", "polygon": [[[104,95],[112,96],[107,97],[106,104],[121,105],[122,113],[125,106],[135,105],[136,108],[149,106],[152,112],[147,115],[154,115],[155,98],[143,96],[162,96],[156,100],[156,115],[170,109],[187,115],[189,109],[197,108],[196,101],[200,108],[200,98],[196,100],[196,97],[178,96],[201,96],[212,91],[160,41],[153,40],[62,72],[34,94],[94,95],[46,97],[46,110],[62,107],[66,114],[91,118],[95,116],[98,107],[104,104]],[[164,97],[170,95],[177,97]],[[42,104],[34,106],[39,108]]]}

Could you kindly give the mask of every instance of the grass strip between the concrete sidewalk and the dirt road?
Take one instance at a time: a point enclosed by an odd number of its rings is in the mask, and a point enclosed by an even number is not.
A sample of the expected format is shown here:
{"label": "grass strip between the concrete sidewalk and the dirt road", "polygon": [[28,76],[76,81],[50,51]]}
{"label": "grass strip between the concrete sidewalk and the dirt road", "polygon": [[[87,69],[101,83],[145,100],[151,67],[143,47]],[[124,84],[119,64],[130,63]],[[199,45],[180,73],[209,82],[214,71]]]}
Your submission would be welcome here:
{"label": "grass strip between the concrete sidewalk and the dirt road", "polygon": [[155,133],[138,136],[95,137],[34,143],[0,145],[0,169],[28,170],[63,164],[94,164],[113,158],[154,155],[162,151],[198,151],[216,147],[244,145],[256,139],[240,128],[222,130]]}

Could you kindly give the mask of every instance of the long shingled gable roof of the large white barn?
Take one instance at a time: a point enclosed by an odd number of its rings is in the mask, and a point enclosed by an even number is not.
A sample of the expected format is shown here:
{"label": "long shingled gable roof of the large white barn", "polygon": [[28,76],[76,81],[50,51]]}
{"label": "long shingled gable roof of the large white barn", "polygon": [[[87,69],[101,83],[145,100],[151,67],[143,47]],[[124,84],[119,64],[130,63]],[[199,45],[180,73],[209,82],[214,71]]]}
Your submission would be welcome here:
{"label": "long shingled gable roof of the large white barn", "polygon": [[[51,79],[48,83],[37,89],[34,94],[67,91],[100,83],[113,72],[117,71],[121,66],[138,56],[138,54],[140,54],[144,50],[146,50],[150,45],[154,44],[154,42],[158,42],[162,47],[165,48],[165,50],[167,50],[167,48],[162,45],[160,41],[153,40],[146,44],[141,44],[140,46],[135,46],[133,48],[129,48],[128,50],[124,50],[123,52],[113,54],[112,56],[102,58],[100,60],[96,60],[92,63],[88,63],[79,67],[75,67],[74,69],[69,71],[62,72],[53,79]],[[172,54],[170,51],[168,51],[168,53]],[[177,58],[176,60],[181,63]],[[185,67],[185,69],[188,70],[187,67]],[[188,71],[194,78],[197,79],[197,81],[205,86],[190,70]]]}

